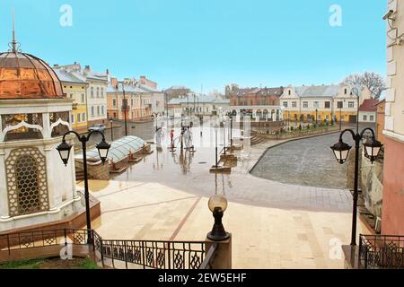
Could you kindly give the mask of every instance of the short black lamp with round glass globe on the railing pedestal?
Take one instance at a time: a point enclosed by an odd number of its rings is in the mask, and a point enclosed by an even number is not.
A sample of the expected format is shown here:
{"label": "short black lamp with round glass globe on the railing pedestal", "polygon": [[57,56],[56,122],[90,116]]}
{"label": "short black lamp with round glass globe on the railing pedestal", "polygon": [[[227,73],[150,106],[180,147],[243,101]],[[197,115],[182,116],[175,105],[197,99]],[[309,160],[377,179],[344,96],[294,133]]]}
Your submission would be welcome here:
{"label": "short black lamp with round glass globe on the railing pedestal", "polygon": [[224,196],[215,195],[209,198],[208,206],[215,218],[212,231],[207,233],[207,239],[213,241],[224,241],[230,238],[230,234],[224,230],[222,218],[227,209],[227,200]]}

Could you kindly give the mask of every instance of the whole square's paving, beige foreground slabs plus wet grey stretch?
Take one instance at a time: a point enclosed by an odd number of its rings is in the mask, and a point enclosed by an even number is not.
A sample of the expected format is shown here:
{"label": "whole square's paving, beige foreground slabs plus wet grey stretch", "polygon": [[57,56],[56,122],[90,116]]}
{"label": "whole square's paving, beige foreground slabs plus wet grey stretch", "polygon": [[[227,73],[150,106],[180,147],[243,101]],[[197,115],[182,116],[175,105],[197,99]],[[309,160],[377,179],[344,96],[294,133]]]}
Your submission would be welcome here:
{"label": "whole square's paving, beige foreground slabs plus wet grey stretch", "polygon": [[[214,132],[207,124],[192,132],[194,154],[179,146],[171,153],[165,134],[160,152],[154,145],[153,154],[123,174],[90,181],[101,202],[101,217],[92,226],[104,239],[204,240],[214,222],[207,200],[217,192],[229,201],[224,228],[233,236],[233,268],[344,267],[339,246],[350,239],[349,191],[251,175],[261,154],[279,141],[253,146],[229,175],[210,174]],[[359,221],[357,232],[369,230]]]}

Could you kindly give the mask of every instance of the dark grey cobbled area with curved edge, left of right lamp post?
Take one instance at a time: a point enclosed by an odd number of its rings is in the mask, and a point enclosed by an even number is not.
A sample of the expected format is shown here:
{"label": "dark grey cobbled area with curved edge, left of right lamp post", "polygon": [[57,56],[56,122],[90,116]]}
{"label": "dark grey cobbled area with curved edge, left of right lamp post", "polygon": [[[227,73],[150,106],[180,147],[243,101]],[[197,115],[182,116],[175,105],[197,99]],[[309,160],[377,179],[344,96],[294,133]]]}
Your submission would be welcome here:
{"label": "dark grey cobbled area with curved edge, left of right lamp post", "polygon": [[[331,149],[339,134],[321,135],[268,149],[251,174],[285,184],[347,188],[347,165],[339,164]],[[344,141],[353,145],[344,135]]]}

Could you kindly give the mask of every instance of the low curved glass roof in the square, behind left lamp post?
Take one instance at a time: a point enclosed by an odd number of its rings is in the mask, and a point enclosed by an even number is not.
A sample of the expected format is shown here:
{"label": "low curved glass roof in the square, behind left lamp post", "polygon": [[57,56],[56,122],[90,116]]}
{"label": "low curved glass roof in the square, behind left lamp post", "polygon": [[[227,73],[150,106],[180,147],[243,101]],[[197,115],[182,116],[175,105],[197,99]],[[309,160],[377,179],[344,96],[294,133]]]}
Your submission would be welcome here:
{"label": "low curved glass roof in the square, behind left lamp post", "polygon": [[[110,143],[110,151],[108,152],[108,159],[114,162],[121,161],[129,155],[129,151],[138,152],[145,145],[145,141],[140,137],[128,135],[120,138],[113,143]],[[76,159],[83,159],[83,153],[75,156]],[[87,160],[100,161],[100,155],[96,148],[87,152]]]}

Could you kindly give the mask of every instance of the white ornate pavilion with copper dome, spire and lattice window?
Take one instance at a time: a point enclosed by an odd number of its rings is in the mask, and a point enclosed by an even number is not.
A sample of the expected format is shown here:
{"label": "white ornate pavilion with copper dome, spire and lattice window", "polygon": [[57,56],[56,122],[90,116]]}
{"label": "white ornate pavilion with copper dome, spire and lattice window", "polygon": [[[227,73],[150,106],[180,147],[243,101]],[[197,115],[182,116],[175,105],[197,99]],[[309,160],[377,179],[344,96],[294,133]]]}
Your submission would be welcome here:
{"label": "white ornate pavilion with copper dome, spire and lattice window", "polygon": [[72,104],[57,74],[22,53],[13,32],[10,50],[0,53],[0,232],[57,222],[83,208],[75,161],[66,168],[56,150],[71,129]]}

